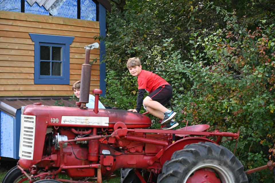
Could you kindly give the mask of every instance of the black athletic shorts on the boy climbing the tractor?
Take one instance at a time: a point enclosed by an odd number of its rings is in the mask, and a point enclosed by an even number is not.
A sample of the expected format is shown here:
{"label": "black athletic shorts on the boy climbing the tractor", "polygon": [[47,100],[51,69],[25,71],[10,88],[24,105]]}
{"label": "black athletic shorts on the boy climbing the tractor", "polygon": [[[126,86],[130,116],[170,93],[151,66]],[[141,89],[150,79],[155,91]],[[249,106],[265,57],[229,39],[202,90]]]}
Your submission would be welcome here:
{"label": "black athletic shorts on the boy climbing the tractor", "polygon": [[162,85],[158,87],[156,90],[152,91],[148,95],[153,101],[157,101],[161,103],[163,106],[168,103],[170,99],[172,99],[173,90],[170,84]]}

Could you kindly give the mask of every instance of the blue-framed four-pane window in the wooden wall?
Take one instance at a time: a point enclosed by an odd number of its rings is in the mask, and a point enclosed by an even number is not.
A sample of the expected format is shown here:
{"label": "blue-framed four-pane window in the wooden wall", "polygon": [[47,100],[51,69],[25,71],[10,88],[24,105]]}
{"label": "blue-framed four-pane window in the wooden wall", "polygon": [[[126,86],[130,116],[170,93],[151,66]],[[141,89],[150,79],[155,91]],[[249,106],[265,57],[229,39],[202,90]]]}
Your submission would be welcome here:
{"label": "blue-framed four-pane window in the wooden wall", "polygon": [[34,84],[70,84],[71,36],[31,34],[34,42]]}

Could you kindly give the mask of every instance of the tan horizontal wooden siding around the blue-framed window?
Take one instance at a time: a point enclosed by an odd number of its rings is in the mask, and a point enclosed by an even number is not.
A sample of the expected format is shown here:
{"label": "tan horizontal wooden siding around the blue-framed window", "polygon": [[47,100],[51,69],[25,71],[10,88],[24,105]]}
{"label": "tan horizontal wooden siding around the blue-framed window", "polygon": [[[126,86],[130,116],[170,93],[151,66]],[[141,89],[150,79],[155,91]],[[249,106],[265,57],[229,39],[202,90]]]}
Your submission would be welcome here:
{"label": "tan horizontal wooden siding around the blue-framed window", "polygon": [[[70,84],[34,84],[34,42],[29,33],[74,36],[70,45]],[[85,49],[99,35],[99,22],[0,11],[0,96],[71,96],[81,78]],[[99,41],[97,40],[99,43]],[[99,49],[91,50],[92,91],[99,88]]]}

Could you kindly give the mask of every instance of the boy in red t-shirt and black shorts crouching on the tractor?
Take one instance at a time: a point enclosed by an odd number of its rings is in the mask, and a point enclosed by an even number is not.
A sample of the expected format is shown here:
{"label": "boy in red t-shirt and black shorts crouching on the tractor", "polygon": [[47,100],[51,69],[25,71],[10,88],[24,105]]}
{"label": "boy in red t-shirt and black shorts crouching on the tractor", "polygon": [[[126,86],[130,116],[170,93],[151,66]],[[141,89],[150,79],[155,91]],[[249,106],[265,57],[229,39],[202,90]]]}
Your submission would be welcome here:
{"label": "boy in red t-shirt and black shorts crouching on the tractor", "polygon": [[[128,111],[140,112],[143,101],[144,109],[162,119],[160,124],[165,125],[163,130],[178,126],[178,123],[173,120],[176,113],[163,106],[172,98],[171,85],[157,74],[142,70],[139,58],[129,58],[126,65],[130,74],[137,76],[138,84],[137,107]],[[149,95],[143,100],[145,90],[149,92]]]}

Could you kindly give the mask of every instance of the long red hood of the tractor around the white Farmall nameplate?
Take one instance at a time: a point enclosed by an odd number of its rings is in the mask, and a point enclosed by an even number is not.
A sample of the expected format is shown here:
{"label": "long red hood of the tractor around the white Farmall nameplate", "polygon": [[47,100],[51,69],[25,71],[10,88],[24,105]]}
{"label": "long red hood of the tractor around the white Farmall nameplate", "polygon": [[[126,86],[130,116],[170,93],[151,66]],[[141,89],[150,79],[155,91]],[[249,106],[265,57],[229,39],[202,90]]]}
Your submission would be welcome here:
{"label": "long red hood of the tractor around the white Farmall nameplate", "polygon": [[[98,127],[98,128],[108,128],[112,129],[118,121],[123,122],[128,129],[133,128],[148,128],[151,126],[152,121],[146,115],[140,113],[133,113],[125,110],[117,109],[99,109],[96,114],[93,109],[82,110],[76,107],[60,107],[60,106],[34,106],[28,105],[24,109],[25,115],[35,115],[37,117],[47,117],[46,120],[40,121],[39,127],[41,125],[47,126],[67,126],[67,127]],[[64,124],[61,123],[62,116],[91,116],[91,117],[109,117],[109,125],[80,125],[80,124]],[[59,123],[51,123],[51,118],[59,119]],[[48,123],[46,123],[48,121]],[[40,133],[42,134],[42,133]]]}

